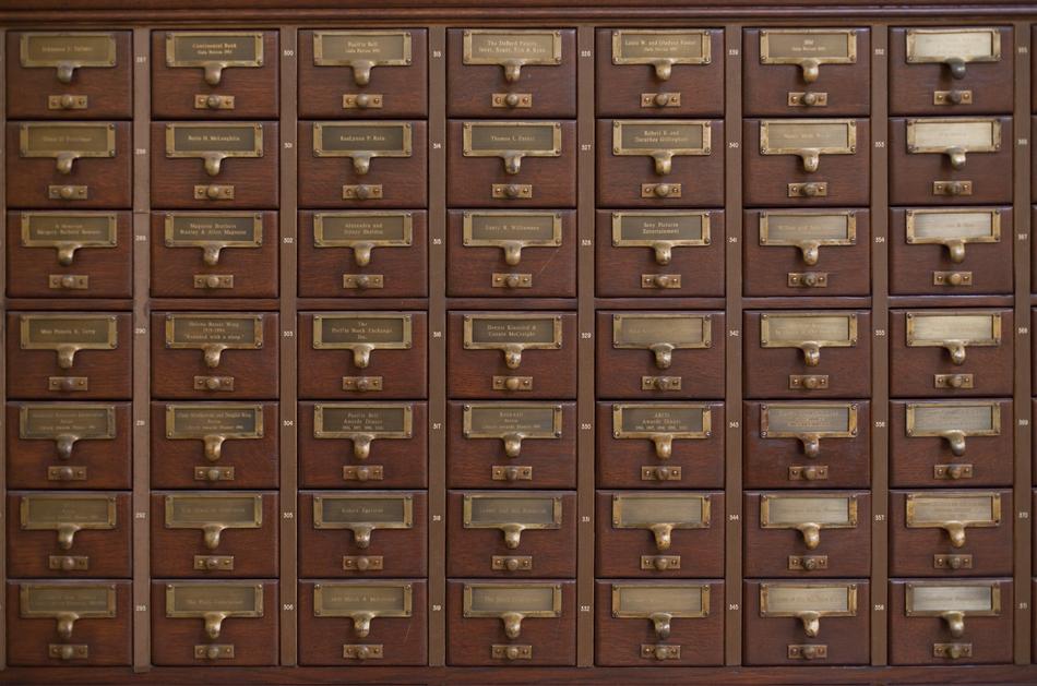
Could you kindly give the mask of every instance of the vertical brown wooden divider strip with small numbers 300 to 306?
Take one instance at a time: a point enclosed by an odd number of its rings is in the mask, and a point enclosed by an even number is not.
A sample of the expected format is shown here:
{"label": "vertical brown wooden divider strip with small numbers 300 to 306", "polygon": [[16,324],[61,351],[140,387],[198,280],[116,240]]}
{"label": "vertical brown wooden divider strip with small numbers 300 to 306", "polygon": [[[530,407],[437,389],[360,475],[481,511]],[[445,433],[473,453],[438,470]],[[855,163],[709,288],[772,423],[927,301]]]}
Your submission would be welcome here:
{"label": "vertical brown wooden divider strip with small numbers 300 to 306", "polygon": [[[296,521],[299,496],[298,469],[298,368],[297,305],[298,274],[298,28],[281,27],[281,202],[277,226],[281,229],[281,664],[298,662],[297,612],[299,589],[298,532]],[[289,334],[290,332],[290,334]]]}

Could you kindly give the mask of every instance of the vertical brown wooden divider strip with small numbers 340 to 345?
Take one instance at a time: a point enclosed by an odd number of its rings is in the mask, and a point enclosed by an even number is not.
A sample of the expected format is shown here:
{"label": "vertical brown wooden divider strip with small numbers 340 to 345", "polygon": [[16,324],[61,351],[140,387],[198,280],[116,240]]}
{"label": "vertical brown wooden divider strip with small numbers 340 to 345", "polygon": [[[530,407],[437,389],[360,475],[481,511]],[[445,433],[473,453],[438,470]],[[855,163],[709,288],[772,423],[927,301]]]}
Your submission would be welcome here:
{"label": "vertical brown wooden divider strip with small numbers 340 to 345", "polygon": [[[724,332],[725,488],[723,513],[725,640],[724,664],[741,664],[742,654],[742,26],[724,27],[724,226],[727,299]],[[715,522],[714,526],[719,526]]]}

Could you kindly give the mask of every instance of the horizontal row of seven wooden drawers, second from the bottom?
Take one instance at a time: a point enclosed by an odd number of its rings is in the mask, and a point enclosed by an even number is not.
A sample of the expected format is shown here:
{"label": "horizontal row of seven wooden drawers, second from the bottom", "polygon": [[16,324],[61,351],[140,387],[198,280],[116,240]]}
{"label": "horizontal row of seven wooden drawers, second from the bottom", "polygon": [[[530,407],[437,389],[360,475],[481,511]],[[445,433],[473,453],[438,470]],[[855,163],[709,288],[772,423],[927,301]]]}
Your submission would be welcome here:
{"label": "horizontal row of seven wooden drawers, second from the bottom", "polygon": [[[1009,490],[892,491],[893,576],[1012,573]],[[274,577],[276,493],[151,495],[152,575]],[[724,571],[720,492],[598,491],[596,574],[715,577]],[[299,494],[302,577],[426,576],[427,496],[420,491]],[[867,491],[744,494],[746,577],[851,577],[871,559]],[[129,577],[128,493],[12,492],[8,574]],[[446,576],[574,577],[576,495],[450,491]]]}

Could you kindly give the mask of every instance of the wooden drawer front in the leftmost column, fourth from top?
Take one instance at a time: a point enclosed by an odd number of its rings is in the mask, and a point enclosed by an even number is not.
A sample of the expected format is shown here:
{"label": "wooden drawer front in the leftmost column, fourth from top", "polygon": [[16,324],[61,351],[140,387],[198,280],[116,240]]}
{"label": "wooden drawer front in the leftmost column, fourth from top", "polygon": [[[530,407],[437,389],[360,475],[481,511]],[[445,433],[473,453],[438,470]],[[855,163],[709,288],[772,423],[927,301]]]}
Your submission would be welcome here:
{"label": "wooden drawer front in the leftmost column, fourth from top", "polygon": [[8,396],[129,398],[131,348],[128,312],[8,313]]}

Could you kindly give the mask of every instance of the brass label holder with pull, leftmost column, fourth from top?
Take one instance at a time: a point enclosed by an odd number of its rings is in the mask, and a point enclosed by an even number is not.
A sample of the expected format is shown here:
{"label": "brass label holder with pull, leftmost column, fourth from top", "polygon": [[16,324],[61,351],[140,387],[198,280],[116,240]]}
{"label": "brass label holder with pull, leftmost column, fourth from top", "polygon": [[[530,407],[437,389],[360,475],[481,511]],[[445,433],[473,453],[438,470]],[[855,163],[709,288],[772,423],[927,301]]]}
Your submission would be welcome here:
{"label": "brass label holder with pull, leftmost column, fourth from top", "polygon": [[119,332],[110,314],[19,315],[22,350],[53,350],[58,368],[72,369],[80,350],[115,350]]}

